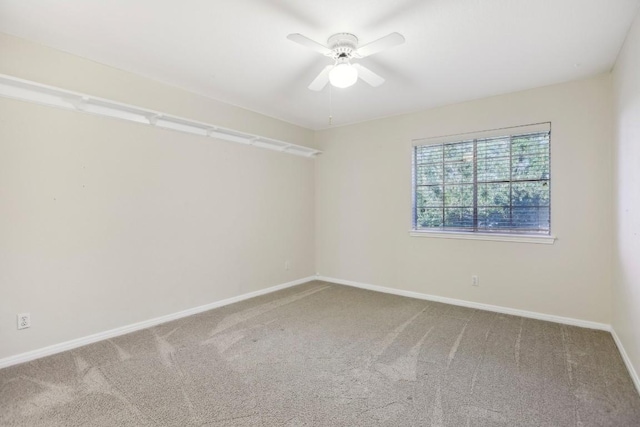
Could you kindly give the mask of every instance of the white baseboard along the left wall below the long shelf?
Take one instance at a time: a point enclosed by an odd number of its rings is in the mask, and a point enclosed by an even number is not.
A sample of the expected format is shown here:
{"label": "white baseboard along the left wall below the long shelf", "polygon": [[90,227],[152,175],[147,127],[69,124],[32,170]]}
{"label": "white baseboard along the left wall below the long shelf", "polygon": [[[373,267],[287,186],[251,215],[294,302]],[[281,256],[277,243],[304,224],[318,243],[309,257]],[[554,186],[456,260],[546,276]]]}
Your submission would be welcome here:
{"label": "white baseboard along the left wall below the long shelf", "polygon": [[290,288],[292,286],[307,283],[312,280],[316,280],[315,276],[305,277],[303,279],[294,280],[292,282],[283,283],[270,288],[260,289],[259,291],[249,292],[247,294],[238,295],[237,297],[227,298],[221,301],[212,302],[210,304],[201,305],[199,307],[189,308],[187,310],[179,311],[177,313],[167,314],[165,316],[156,317],[154,319],[144,320],[142,322],[133,323],[131,325],[121,326],[119,328],[111,329],[109,331],[99,332],[97,334],[89,335],[82,338],[76,338],[71,341],[65,341],[59,344],[50,345],[37,350],[28,351],[26,353],[20,353],[15,356],[5,357],[0,359],[0,369],[8,366],[17,365],[24,362],[29,362],[41,357],[50,356],[52,354],[61,353],[63,351],[72,350],[74,348],[82,347],[87,344],[91,344],[97,341],[106,340],[109,338],[125,335],[131,332],[139,331],[141,329],[150,328],[152,326],[166,323],[171,320],[181,319],[183,317],[191,316],[193,314],[202,313],[217,307],[233,304],[235,302],[244,301],[249,298],[254,298],[260,295],[269,294],[271,292],[279,291],[281,289]]}

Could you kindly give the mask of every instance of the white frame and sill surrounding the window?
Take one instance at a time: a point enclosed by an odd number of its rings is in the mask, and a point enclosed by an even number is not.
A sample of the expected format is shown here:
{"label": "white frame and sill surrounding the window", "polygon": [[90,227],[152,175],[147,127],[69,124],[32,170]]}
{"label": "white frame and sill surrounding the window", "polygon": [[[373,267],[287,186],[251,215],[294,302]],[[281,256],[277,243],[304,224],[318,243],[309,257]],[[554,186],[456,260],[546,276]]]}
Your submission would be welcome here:
{"label": "white frame and sill surrounding the window", "polygon": [[[409,235],[412,237],[429,237],[429,238],[445,238],[445,239],[464,239],[464,240],[491,240],[500,242],[520,242],[520,243],[536,243],[536,244],[553,244],[556,237],[549,234],[525,234],[517,232],[499,233],[499,232],[483,232],[483,231],[448,231],[439,229],[417,229],[415,226],[415,201],[416,201],[416,172],[415,172],[415,147],[423,145],[439,145],[452,142],[461,142],[472,139],[483,139],[491,137],[503,137],[512,135],[521,135],[525,133],[549,132],[551,134],[551,123],[536,123],[531,125],[515,126],[508,128],[492,129],[488,131],[470,132],[456,135],[446,135],[433,138],[421,138],[412,140],[411,150],[411,230]],[[549,141],[551,142],[551,141]],[[551,144],[549,144],[551,149]],[[551,162],[551,153],[549,153],[549,161]],[[549,164],[551,169],[551,164]],[[551,194],[551,192],[550,192]],[[550,201],[551,203],[551,201]],[[549,208],[551,211],[551,207]]]}

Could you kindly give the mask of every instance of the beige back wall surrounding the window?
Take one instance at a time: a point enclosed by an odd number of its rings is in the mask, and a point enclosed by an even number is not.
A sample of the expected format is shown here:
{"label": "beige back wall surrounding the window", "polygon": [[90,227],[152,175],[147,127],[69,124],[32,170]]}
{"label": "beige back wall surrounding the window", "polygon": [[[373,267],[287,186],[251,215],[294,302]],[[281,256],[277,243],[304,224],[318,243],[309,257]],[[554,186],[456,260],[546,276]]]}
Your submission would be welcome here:
{"label": "beige back wall surrounding the window", "polygon": [[[409,236],[411,139],[543,121],[553,128],[554,245]],[[319,132],[317,271],[609,323],[611,132],[608,74]]]}

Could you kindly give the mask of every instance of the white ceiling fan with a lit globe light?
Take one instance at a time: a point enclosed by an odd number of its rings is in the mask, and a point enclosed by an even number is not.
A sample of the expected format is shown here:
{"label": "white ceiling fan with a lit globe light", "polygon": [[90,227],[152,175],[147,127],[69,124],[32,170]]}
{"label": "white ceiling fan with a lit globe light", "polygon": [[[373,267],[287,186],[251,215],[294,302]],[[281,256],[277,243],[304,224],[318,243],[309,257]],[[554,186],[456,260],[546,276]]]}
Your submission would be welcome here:
{"label": "white ceiling fan with a lit globe light", "polygon": [[404,43],[404,37],[399,33],[388,34],[361,47],[358,47],[358,38],[351,33],[332,35],[326,46],[298,33],[289,34],[287,38],[334,60],[334,64],[324,67],[309,85],[309,89],[315,91],[322,90],[329,82],[332,86],[346,88],[355,84],[358,77],[373,87],[380,86],[384,83],[384,78],[363,65],[351,64],[351,60],[364,58]]}

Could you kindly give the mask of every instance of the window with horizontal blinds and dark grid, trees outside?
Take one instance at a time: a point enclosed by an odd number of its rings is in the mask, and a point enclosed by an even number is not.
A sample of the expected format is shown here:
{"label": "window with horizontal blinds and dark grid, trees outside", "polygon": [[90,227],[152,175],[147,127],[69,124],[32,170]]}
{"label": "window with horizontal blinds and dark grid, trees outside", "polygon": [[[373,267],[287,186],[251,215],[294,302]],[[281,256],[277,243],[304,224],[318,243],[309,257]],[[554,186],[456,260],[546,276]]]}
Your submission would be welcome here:
{"label": "window with horizontal blinds and dark grid, trees outside", "polygon": [[550,123],[414,141],[413,229],[549,235]]}

